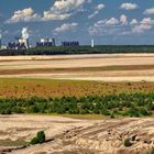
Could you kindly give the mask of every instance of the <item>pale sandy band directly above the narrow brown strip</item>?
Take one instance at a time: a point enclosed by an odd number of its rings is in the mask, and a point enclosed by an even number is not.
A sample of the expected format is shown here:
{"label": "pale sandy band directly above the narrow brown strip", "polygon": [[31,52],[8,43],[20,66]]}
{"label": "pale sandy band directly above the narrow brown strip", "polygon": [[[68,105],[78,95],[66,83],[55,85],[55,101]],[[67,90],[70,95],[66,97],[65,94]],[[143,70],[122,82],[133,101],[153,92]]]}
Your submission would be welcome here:
{"label": "pale sandy band directly above the narrow brown strip", "polygon": [[24,68],[79,68],[120,65],[153,65],[154,57],[90,57],[69,58],[57,61],[16,61],[1,62],[0,69],[24,69]]}

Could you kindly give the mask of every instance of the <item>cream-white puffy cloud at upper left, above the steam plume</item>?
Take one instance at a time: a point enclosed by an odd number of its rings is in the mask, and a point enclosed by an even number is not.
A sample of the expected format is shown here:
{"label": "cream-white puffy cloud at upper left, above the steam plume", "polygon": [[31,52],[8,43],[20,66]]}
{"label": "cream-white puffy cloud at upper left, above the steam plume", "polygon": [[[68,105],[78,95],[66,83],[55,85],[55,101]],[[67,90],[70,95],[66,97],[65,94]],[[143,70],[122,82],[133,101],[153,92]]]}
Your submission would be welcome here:
{"label": "cream-white puffy cloud at upper left, above the steam plume", "polygon": [[26,8],[23,10],[18,10],[13,13],[13,15],[7,21],[7,23],[15,23],[15,22],[30,22],[30,21],[38,21],[41,16],[33,11],[32,8]]}

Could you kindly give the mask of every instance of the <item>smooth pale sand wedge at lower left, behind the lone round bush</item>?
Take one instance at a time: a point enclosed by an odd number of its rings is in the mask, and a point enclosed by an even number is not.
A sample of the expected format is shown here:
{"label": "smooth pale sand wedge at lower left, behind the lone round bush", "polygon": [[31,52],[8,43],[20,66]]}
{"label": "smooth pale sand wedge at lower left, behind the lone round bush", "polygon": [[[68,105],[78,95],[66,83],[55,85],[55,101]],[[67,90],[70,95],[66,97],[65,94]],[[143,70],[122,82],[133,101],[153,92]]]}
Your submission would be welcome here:
{"label": "smooth pale sand wedge at lower left, behind the lone round bush", "polygon": [[44,130],[47,139],[73,129],[89,125],[95,121],[75,120],[56,116],[0,116],[0,140],[30,141],[37,131]]}

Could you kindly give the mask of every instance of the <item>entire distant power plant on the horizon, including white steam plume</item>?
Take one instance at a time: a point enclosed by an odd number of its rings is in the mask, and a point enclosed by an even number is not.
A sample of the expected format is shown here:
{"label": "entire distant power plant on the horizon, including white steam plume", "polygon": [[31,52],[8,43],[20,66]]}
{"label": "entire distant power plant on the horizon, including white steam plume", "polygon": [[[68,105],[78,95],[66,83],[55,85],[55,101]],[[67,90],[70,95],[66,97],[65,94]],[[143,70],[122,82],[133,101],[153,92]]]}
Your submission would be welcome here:
{"label": "entire distant power plant on the horizon, including white steam plume", "polygon": [[[14,41],[9,42],[7,45],[2,44],[2,36],[0,35],[0,48],[1,50],[28,50],[33,47],[52,47],[56,46],[55,38],[41,38],[38,42],[35,43],[35,45],[31,45],[29,41],[29,33],[25,28],[22,30],[21,37],[15,37]],[[61,46],[79,46],[78,41],[64,41],[62,42]]]}

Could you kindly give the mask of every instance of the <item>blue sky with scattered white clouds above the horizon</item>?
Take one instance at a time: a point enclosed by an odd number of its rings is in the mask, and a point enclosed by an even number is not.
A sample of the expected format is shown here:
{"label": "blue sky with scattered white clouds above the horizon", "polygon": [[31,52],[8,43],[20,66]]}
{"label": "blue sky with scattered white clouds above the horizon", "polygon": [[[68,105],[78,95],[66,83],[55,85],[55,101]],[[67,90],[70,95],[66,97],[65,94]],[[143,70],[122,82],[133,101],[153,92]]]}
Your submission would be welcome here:
{"label": "blue sky with scattered white clouds above the horizon", "polygon": [[154,44],[154,0],[0,0],[2,42],[22,32],[80,44]]}

